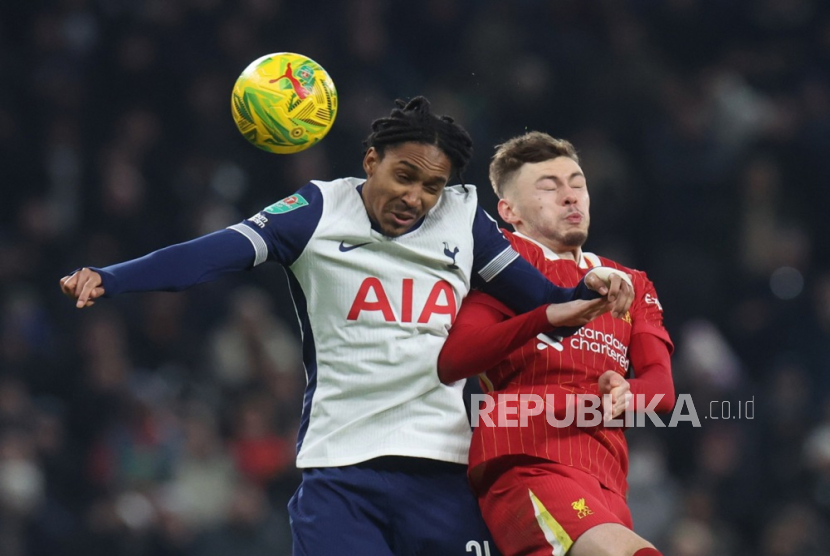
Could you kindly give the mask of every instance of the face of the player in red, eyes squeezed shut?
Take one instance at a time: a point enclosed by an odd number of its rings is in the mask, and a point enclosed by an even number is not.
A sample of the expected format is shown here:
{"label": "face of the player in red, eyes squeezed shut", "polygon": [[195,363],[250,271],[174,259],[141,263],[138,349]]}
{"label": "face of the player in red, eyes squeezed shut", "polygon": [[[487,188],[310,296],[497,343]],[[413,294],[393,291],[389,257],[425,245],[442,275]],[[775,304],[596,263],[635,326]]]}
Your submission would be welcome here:
{"label": "face of the player in red, eyes squeezed shut", "polygon": [[560,156],[525,164],[504,196],[502,218],[555,252],[581,247],[588,239],[590,198],[585,174],[574,160]]}

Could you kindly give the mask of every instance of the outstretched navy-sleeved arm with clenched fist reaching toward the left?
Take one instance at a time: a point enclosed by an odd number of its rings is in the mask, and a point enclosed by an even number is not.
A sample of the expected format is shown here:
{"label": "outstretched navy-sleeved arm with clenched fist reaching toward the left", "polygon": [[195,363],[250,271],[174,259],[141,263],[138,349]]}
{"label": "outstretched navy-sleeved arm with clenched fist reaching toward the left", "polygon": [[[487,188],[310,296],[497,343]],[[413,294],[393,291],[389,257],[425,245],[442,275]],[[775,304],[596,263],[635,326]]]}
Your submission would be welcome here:
{"label": "outstretched navy-sleeved arm with clenched fist reaching toward the left", "polygon": [[61,290],[76,307],[128,292],[180,291],[222,274],[249,268],[254,248],[242,234],[221,230],[171,245],[138,259],[105,268],[82,268],[61,279]]}

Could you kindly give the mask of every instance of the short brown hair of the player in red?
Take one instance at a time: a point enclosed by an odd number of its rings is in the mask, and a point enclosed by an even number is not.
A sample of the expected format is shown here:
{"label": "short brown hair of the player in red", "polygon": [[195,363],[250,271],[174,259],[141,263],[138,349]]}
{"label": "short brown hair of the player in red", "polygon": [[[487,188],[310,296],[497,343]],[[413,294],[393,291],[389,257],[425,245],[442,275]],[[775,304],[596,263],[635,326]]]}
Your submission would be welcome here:
{"label": "short brown hair of the player in red", "polygon": [[504,187],[524,164],[544,162],[567,156],[579,164],[579,156],[570,141],[556,139],[541,131],[530,131],[496,146],[490,162],[490,183],[499,199]]}

